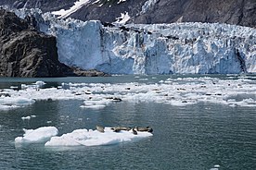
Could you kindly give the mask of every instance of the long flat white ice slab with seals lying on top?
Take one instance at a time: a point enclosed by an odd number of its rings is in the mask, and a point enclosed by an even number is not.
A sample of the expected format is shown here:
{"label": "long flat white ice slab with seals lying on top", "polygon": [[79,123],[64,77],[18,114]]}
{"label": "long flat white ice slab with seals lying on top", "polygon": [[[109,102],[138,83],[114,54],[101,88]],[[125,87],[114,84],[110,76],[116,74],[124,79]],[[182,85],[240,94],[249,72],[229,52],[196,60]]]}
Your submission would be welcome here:
{"label": "long flat white ice slab with seals lying on top", "polygon": [[134,135],[132,131],[113,132],[110,128],[105,128],[104,133],[97,130],[77,129],[61,137],[53,137],[45,143],[45,146],[98,146],[117,144],[125,141],[133,141],[153,136],[149,132],[137,132]]}

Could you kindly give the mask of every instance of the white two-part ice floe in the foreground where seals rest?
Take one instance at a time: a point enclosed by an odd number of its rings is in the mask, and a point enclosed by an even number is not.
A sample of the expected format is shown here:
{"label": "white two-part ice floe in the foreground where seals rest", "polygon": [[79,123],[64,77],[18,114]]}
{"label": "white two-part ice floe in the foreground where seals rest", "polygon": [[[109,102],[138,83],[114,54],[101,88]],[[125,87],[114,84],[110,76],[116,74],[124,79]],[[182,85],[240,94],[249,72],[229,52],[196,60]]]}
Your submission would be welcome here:
{"label": "white two-part ice floe in the foreground where seals rest", "polygon": [[55,127],[42,127],[36,129],[23,129],[25,134],[23,137],[17,137],[15,143],[18,144],[31,144],[43,143],[45,146],[98,146],[118,144],[121,142],[134,141],[142,138],[153,136],[152,133],[147,131],[137,131],[134,134],[133,130],[121,130],[114,132],[111,128],[104,128],[104,133],[92,129],[76,129],[70,133],[58,135],[58,128]]}

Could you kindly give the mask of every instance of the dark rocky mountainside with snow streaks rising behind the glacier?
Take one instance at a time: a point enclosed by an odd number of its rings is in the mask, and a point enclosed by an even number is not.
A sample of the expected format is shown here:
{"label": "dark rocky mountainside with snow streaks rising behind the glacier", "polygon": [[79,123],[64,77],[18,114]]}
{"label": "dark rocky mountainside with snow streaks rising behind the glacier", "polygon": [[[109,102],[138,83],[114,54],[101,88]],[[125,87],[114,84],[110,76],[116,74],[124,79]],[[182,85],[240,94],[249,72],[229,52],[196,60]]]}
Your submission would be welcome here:
{"label": "dark rocky mountainside with snow streaks rising behind the glacier", "polygon": [[39,7],[43,12],[78,5],[68,16],[104,22],[127,14],[130,23],[219,22],[256,27],[255,0],[2,0],[0,5]]}

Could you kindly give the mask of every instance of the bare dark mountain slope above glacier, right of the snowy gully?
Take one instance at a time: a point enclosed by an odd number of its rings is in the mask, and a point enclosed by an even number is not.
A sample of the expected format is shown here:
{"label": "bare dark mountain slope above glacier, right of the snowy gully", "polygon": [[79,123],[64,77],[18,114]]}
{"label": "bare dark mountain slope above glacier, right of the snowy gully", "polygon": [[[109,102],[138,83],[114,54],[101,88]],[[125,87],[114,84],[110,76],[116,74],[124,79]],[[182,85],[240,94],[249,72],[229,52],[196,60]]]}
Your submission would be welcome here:
{"label": "bare dark mountain slope above glacier, right of the snowy gully", "polygon": [[256,27],[255,0],[159,0],[135,23],[220,22]]}

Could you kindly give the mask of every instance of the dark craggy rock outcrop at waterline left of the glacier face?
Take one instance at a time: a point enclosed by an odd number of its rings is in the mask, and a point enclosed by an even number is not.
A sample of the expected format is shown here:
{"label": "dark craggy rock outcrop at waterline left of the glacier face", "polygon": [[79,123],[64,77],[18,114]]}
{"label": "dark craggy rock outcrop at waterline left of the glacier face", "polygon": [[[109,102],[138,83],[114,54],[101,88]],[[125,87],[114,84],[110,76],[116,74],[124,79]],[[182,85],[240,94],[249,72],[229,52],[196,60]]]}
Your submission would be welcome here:
{"label": "dark craggy rock outcrop at waterline left of the glacier face", "polygon": [[84,71],[60,63],[56,44],[55,37],[38,32],[26,20],[0,9],[1,77],[105,76],[96,70]]}

